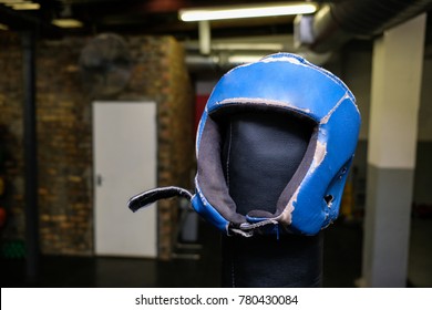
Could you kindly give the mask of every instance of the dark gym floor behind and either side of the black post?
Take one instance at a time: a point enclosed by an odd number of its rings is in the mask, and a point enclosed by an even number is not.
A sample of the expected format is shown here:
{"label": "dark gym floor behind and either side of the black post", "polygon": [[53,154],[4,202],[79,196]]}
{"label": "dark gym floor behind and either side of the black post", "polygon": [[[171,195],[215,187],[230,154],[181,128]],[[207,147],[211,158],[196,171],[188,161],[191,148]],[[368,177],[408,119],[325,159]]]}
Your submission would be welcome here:
{"label": "dark gym floor behind and either side of the black post", "polygon": [[[23,260],[2,259],[1,287],[220,287],[219,235],[203,226],[200,259],[41,258],[40,278],[27,283]],[[432,287],[432,218],[413,217],[408,287]],[[361,276],[361,223],[337,221],[326,230],[323,287],[356,287]]]}

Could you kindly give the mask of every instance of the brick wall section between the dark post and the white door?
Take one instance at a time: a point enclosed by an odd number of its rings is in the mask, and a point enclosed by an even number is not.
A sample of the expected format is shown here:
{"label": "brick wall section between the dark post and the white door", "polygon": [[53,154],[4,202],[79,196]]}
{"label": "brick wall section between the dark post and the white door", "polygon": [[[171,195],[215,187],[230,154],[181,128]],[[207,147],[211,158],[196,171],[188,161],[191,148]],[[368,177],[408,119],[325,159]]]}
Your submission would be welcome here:
{"label": "brick wall section between the dark post and the white door", "polygon": [[44,254],[93,249],[91,97],[78,59],[84,41],[42,41],[37,50],[39,207]]}

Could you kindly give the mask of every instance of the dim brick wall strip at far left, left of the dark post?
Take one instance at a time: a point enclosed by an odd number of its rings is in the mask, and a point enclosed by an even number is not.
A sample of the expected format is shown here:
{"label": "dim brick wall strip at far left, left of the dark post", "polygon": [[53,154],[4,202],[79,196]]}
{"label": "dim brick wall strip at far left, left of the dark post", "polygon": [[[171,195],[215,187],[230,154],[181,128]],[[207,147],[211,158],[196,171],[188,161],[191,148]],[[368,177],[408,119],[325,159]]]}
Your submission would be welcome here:
{"label": "dim brick wall strip at far left, left of the dark post", "polygon": [[24,236],[22,161],[22,53],[20,38],[0,31],[0,147],[6,193],[1,205],[9,214],[4,238]]}

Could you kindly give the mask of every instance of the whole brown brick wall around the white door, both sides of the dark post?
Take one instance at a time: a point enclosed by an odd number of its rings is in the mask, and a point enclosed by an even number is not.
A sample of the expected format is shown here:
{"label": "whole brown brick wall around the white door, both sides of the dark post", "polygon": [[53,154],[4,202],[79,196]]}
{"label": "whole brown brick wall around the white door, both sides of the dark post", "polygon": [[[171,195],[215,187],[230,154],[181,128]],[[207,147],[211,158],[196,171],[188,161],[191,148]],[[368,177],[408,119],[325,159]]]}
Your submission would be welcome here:
{"label": "whole brown brick wall around the white door, both sides of the dark post", "polygon": [[[124,38],[132,75],[122,92],[104,100],[158,104],[158,185],[191,186],[193,94],[184,51],[169,37]],[[91,38],[40,41],[37,46],[40,234],[43,254],[93,252],[91,102],[82,87],[79,58]],[[0,141],[6,145],[7,236],[23,238],[22,90],[19,38],[0,39]],[[6,76],[7,75],[7,76]],[[160,257],[168,259],[176,228],[176,202],[161,202]]]}

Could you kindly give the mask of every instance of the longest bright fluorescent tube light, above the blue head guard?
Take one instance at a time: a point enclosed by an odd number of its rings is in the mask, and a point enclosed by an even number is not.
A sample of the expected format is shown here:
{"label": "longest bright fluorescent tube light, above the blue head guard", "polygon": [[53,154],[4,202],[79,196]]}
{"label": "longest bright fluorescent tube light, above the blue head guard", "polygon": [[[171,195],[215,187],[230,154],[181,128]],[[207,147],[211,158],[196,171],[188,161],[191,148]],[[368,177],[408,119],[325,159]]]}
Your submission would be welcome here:
{"label": "longest bright fluorescent tube light, above the blue head guard", "polygon": [[279,2],[257,6],[183,9],[178,11],[178,16],[183,21],[202,21],[308,14],[315,11],[317,11],[317,4],[311,2],[287,2],[286,4]]}

